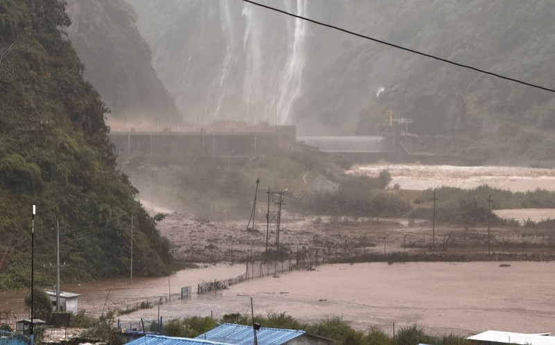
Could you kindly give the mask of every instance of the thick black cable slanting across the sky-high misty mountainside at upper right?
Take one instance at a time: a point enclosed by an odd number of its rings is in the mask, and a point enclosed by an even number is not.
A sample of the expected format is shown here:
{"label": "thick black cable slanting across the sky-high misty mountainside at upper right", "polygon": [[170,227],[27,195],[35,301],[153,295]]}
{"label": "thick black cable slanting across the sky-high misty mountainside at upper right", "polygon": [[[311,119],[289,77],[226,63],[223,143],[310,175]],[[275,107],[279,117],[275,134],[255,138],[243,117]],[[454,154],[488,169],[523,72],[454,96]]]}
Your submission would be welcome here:
{"label": "thick black cable slanting across the sky-high misty mountainside at upper right", "polygon": [[540,85],[531,84],[531,83],[529,83],[529,82],[524,82],[524,81],[522,81],[522,80],[518,80],[518,79],[515,79],[515,78],[510,78],[510,77],[507,77],[507,76],[502,76],[501,74],[497,74],[497,73],[493,73],[493,72],[490,72],[490,71],[486,71],[486,70],[484,70],[484,69],[478,69],[478,68],[472,67],[472,66],[470,66],[470,65],[468,65],[468,64],[461,64],[461,63],[459,63],[459,62],[454,62],[454,61],[452,61],[452,60],[447,60],[447,59],[444,59],[443,57],[438,57],[438,56],[436,56],[436,55],[431,55],[431,54],[427,54],[427,53],[422,53],[421,51],[416,51],[416,50],[411,49],[411,48],[407,48],[407,47],[399,46],[399,45],[397,45],[397,44],[393,44],[393,43],[390,43],[390,42],[382,41],[381,39],[376,39],[376,38],[373,38],[373,37],[370,37],[370,36],[361,35],[360,33],[355,33],[354,31],[345,30],[344,28],[339,28],[338,26],[333,26],[333,25],[330,25],[330,24],[325,24],[325,23],[323,23],[323,22],[321,22],[321,21],[316,21],[316,20],[314,20],[314,19],[309,19],[309,18],[307,18],[307,17],[302,17],[302,16],[300,16],[300,15],[294,15],[294,14],[291,13],[291,12],[287,12],[287,11],[284,11],[284,10],[280,10],[280,9],[278,9],[278,8],[274,8],[274,7],[271,7],[271,6],[263,5],[262,3],[257,3],[257,2],[255,2],[255,1],[250,1],[250,0],[242,0],[242,1],[244,1],[244,2],[246,2],[246,3],[251,3],[251,4],[253,4],[253,5],[260,6],[260,7],[263,7],[263,8],[267,8],[268,10],[273,10],[273,11],[275,11],[275,12],[280,12],[280,13],[282,13],[282,14],[284,14],[284,15],[288,15],[288,16],[290,16],[290,17],[295,17],[295,18],[298,18],[298,19],[302,19],[302,20],[305,20],[305,21],[309,21],[309,22],[314,23],[314,24],[318,24],[318,25],[321,25],[321,26],[325,26],[325,27],[327,27],[327,28],[332,28],[332,29],[334,29],[334,30],[339,30],[339,31],[341,31],[341,32],[343,32],[343,33],[348,33],[349,35],[354,35],[354,36],[357,36],[357,37],[369,39],[370,41],[377,42],[377,43],[381,43],[381,44],[385,44],[386,46],[392,46],[393,48],[398,48],[398,49],[401,49],[402,51],[409,51],[410,53],[414,53],[414,54],[422,55],[422,56],[425,56],[425,57],[429,57],[429,58],[432,58],[432,59],[434,59],[434,60],[443,61],[443,62],[446,62],[447,64],[453,64],[453,65],[455,65],[455,66],[463,67],[463,68],[465,68],[465,69],[471,69],[472,71],[477,71],[477,72],[479,72],[479,73],[485,73],[485,74],[488,74],[488,75],[490,75],[490,76],[494,76],[494,77],[497,77],[497,78],[509,80],[509,81],[511,81],[511,82],[518,82],[519,84],[522,84],[522,85],[527,85],[527,86],[529,86],[529,87],[535,87],[536,89],[542,89],[542,90],[545,90],[545,91],[549,91],[549,92],[555,93],[555,89],[549,89],[548,87],[543,87],[543,86],[540,86]]}

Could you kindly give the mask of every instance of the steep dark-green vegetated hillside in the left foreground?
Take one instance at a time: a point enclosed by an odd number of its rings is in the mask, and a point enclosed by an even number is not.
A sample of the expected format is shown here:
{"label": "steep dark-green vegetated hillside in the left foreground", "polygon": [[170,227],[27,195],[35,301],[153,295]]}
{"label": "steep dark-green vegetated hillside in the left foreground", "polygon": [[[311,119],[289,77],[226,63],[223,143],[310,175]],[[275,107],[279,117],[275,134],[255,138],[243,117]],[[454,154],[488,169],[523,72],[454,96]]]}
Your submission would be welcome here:
{"label": "steep dark-green vegetated hillside in the left foreground", "polygon": [[134,214],[134,272],[164,274],[169,244],[137,193],[115,170],[105,106],[83,80],[81,64],[60,33],[69,24],[60,0],[1,0],[0,290],[30,280],[31,206],[35,217],[35,282],[53,283],[56,222],[62,229],[65,280],[129,272]]}

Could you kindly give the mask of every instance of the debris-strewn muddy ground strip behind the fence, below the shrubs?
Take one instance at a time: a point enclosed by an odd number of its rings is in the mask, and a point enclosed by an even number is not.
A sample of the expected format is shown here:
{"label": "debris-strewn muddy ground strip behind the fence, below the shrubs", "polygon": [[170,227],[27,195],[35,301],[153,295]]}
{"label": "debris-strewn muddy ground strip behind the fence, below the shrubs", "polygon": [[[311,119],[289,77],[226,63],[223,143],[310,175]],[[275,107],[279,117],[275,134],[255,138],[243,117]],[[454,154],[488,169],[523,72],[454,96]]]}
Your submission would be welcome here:
{"label": "debris-strewn muddy ground strip behind the fence, below the shrubs", "polygon": [[[519,210],[504,215],[520,214]],[[545,211],[541,212],[542,214]],[[546,213],[547,214],[547,213]],[[198,262],[246,260],[266,250],[266,224],[255,223],[255,231],[245,222],[209,222],[183,213],[173,213],[158,229],[173,243],[176,258]],[[268,231],[268,249],[277,247],[275,224]],[[433,234],[435,233],[435,238]],[[524,235],[524,237],[523,237]],[[488,252],[488,229],[464,229],[427,220],[409,223],[404,219],[348,217],[284,217],[280,229],[280,249],[291,258],[297,251],[316,251],[325,258],[341,259],[361,254],[406,252],[412,254],[466,254],[484,259]],[[492,227],[490,252],[515,256],[555,254],[555,237],[543,229]],[[487,260],[487,258],[485,258]]]}

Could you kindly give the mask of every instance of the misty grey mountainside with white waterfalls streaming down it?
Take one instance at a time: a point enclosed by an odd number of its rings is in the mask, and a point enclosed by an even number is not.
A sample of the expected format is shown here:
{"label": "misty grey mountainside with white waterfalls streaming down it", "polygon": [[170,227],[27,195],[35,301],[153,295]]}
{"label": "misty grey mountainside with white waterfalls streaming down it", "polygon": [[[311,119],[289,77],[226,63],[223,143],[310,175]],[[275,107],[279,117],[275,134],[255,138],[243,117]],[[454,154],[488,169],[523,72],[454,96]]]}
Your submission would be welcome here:
{"label": "misty grey mountainside with white waterfalls streaming down it", "polygon": [[[552,85],[549,1],[262,1],[481,69]],[[452,67],[242,1],[128,0],[153,67],[191,121],[296,123],[304,134],[497,134],[555,126],[552,94]],[[380,89],[384,89],[377,96]],[[250,100],[250,102],[249,102]],[[250,116],[249,116],[250,103]]]}

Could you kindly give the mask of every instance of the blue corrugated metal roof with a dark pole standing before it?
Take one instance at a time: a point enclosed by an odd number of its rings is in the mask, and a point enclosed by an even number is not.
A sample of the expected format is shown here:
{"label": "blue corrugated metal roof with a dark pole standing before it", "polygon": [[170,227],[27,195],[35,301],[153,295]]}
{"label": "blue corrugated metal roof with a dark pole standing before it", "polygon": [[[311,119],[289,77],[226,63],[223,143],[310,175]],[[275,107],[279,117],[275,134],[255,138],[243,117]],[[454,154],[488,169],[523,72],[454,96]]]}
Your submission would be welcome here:
{"label": "blue corrugated metal roof with a dark pole standing before it", "polygon": [[[291,339],[305,334],[304,330],[284,330],[278,328],[261,327],[256,332],[258,345],[280,345]],[[235,324],[223,324],[207,333],[203,333],[196,339],[207,339],[212,342],[223,342],[232,345],[253,345],[254,335],[252,326],[241,326]]]}

